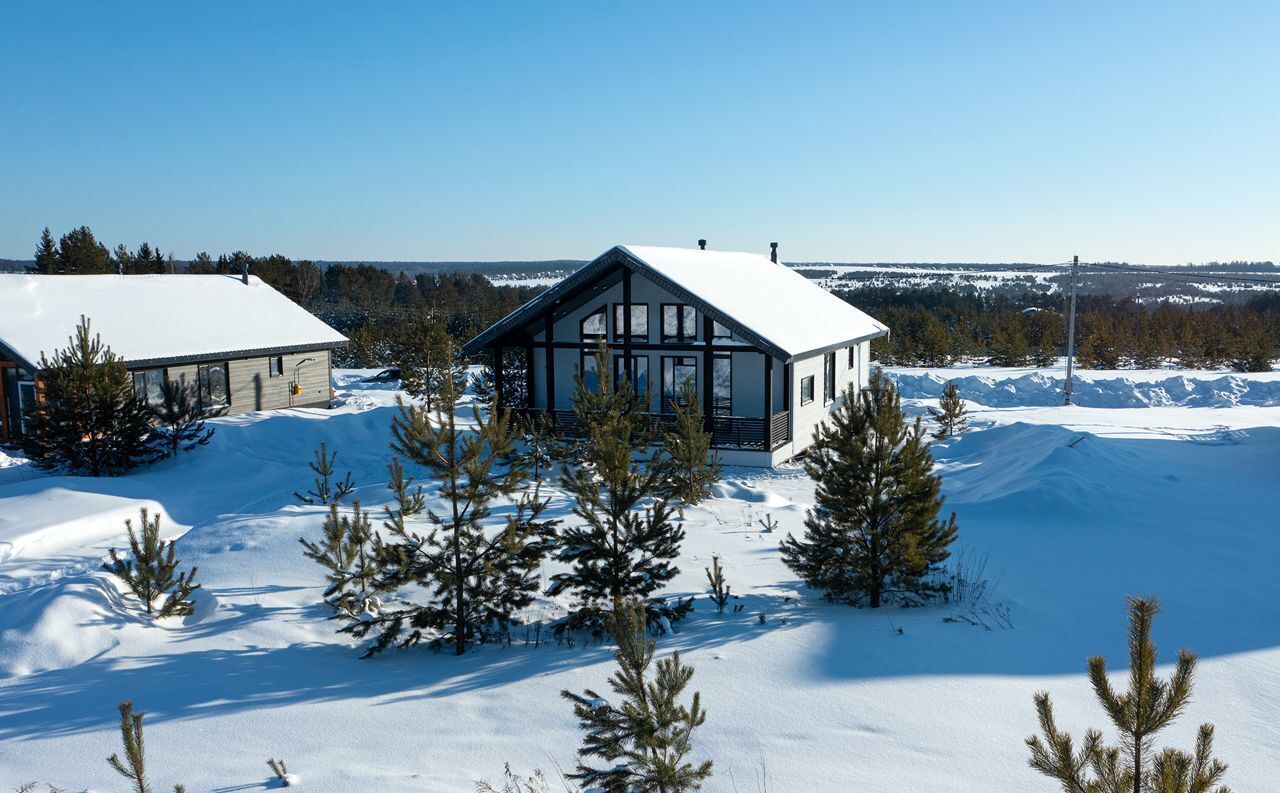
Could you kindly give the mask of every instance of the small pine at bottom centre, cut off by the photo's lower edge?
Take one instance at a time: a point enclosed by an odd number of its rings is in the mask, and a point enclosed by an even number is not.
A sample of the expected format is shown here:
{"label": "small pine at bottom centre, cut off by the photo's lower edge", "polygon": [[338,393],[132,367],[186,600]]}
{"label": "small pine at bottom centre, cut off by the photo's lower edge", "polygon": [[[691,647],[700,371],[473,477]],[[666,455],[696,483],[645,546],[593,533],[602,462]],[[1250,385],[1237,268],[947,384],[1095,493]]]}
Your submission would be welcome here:
{"label": "small pine at bottom centre, cut off by the photo's lower edge", "polygon": [[[694,692],[687,706],[681,696],[694,677],[694,669],[680,661],[680,652],[658,661],[657,675],[646,680],[653,663],[654,642],[645,629],[640,604],[618,604],[609,632],[617,642],[613,657],[618,670],[609,687],[622,698],[612,705],[586,689],[582,695],[562,691],[573,703],[573,714],[586,733],[579,750],[580,761],[571,779],[603,793],[685,793],[701,789],[712,775],[712,762],[694,764],[694,730],[707,721],[701,698]],[[588,761],[598,757],[604,767]]]}

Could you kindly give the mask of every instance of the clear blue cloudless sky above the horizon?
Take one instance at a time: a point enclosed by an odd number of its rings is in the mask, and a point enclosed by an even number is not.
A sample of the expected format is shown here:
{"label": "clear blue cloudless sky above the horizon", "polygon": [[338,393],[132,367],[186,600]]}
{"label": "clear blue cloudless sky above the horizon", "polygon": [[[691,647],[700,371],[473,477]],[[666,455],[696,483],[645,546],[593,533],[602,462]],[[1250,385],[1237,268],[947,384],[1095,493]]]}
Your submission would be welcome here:
{"label": "clear blue cloudless sky above the horizon", "polygon": [[1280,260],[1276,3],[0,0],[0,256]]}

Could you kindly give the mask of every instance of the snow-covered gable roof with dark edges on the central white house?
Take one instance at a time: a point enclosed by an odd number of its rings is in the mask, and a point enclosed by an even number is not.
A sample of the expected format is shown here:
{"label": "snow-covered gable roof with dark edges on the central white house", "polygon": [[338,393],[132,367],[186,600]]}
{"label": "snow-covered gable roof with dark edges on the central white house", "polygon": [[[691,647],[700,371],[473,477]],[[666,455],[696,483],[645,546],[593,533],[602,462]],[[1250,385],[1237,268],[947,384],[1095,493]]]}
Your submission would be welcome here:
{"label": "snow-covered gable roof with dark edges on the central white house", "polygon": [[781,358],[835,349],[881,336],[888,327],[768,256],[732,251],[618,246],[516,310],[467,343],[485,347],[529,317],[553,306],[576,285],[614,263],[630,266],[684,295]]}

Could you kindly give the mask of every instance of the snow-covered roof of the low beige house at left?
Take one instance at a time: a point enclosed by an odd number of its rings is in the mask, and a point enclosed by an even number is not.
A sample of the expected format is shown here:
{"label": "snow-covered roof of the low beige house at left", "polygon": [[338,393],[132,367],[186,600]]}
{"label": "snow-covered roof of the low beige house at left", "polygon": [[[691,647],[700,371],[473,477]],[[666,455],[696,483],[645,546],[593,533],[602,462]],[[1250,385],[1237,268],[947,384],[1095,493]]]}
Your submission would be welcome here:
{"label": "snow-covered roof of the low beige house at left", "polygon": [[347,340],[256,276],[0,275],[0,345],[28,366],[65,348],[81,316],[131,365]]}

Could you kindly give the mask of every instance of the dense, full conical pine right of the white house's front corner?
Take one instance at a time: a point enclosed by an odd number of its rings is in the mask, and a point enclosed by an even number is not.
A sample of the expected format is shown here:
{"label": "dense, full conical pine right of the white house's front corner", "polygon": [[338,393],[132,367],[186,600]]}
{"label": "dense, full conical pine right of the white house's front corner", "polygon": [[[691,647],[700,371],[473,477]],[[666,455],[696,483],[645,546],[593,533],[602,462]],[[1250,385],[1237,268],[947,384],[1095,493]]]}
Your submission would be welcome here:
{"label": "dense, full conical pine right of the white house's front corner", "polygon": [[805,471],[817,483],[804,540],[790,533],[782,559],[827,600],[878,608],[886,596],[941,591],[931,570],[950,554],[955,514],[938,519],[941,477],[920,420],[909,425],[897,389],[876,368],[818,426]]}

